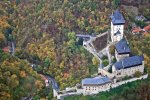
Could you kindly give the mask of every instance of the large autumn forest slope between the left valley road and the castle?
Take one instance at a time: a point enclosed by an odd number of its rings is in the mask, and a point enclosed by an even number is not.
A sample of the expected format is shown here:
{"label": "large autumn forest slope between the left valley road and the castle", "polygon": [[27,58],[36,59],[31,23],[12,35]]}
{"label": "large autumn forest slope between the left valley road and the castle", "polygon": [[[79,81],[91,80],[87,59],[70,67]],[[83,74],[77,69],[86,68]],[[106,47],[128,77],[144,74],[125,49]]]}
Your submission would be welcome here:
{"label": "large autumn forest slope between the left valley road and the castle", "polygon": [[[99,34],[109,27],[109,0],[23,0],[11,14],[16,56],[37,65],[61,88],[92,74],[92,55],[76,34]],[[107,7],[107,8],[106,8]],[[96,67],[95,67],[96,69]],[[84,74],[82,74],[84,73]]]}

